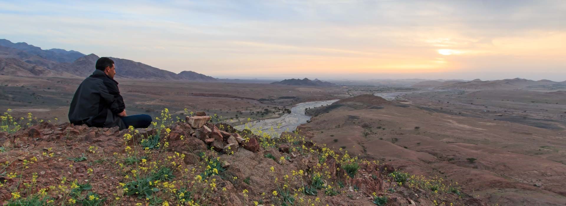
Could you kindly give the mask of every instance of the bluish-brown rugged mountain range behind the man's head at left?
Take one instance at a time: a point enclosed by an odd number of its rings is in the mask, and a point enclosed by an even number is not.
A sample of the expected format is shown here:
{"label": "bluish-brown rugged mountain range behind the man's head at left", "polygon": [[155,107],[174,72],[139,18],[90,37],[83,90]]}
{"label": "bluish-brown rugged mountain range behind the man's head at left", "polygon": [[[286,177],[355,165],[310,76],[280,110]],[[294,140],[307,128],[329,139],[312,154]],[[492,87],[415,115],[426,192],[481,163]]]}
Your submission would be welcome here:
{"label": "bluish-brown rugged mountain range behind the man's head at left", "polygon": [[[77,51],[66,51],[62,49],[42,50],[40,47],[28,45],[25,42],[12,43],[8,40],[0,40],[0,58],[12,64],[5,64],[3,73],[5,75],[19,76],[38,76],[37,71],[29,69],[41,67],[41,76],[77,76],[87,77],[95,69],[96,60],[99,58],[95,54],[84,55]],[[14,60],[31,64],[21,66],[22,63],[15,63]],[[111,58],[116,65],[117,78],[143,79],[143,80],[174,80],[174,81],[216,81],[216,78],[205,76],[204,74],[183,71],[179,74],[163,69],[152,67],[140,62],[128,59]],[[20,66],[17,66],[20,65]],[[12,68],[14,66],[14,68]],[[27,71],[27,72],[26,72]]]}

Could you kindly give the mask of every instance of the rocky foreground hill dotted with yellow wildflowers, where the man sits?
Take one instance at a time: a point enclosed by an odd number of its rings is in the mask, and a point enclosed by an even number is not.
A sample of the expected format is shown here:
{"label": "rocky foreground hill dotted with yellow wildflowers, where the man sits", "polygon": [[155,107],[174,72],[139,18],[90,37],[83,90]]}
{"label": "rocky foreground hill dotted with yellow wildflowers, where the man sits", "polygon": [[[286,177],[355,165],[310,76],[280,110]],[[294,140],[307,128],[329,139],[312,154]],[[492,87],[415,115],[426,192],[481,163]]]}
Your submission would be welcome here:
{"label": "rocky foreground hill dotted with yellow wildflowers, where the man sits", "polygon": [[452,183],[295,133],[271,138],[208,116],[169,118],[165,110],[153,128],[121,131],[35,121],[6,128],[0,204],[486,205]]}

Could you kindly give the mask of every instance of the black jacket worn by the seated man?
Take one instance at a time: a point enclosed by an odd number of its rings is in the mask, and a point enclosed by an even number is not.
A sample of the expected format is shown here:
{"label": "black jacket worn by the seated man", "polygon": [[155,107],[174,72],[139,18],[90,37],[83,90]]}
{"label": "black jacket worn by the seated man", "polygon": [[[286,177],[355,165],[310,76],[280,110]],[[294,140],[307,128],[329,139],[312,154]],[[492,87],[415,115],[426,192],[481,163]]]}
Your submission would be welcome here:
{"label": "black jacket worn by the seated man", "polygon": [[125,108],[118,82],[96,69],[76,89],[69,108],[69,122],[98,128],[119,126],[120,129],[126,129],[118,116]]}

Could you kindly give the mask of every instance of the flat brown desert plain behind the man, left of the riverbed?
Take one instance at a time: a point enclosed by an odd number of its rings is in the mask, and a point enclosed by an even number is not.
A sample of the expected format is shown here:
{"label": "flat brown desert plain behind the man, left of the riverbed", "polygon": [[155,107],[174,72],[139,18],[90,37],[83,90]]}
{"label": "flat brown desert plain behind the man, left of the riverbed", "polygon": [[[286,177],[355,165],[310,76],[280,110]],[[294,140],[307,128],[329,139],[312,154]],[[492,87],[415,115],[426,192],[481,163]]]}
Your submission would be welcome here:
{"label": "flat brown desert plain behind the man, left of the riverbed", "polygon": [[[32,112],[39,119],[68,121],[68,105],[83,78],[0,75],[0,111],[15,116]],[[159,116],[164,108],[183,117],[188,111],[217,113],[224,119],[252,120],[280,116],[284,107],[315,100],[340,99],[341,87],[305,87],[230,82],[178,82],[118,79],[128,115]],[[277,107],[278,109],[275,109]],[[260,115],[264,109],[271,112]],[[236,116],[238,115],[238,116]],[[58,120],[55,121],[54,119]],[[237,119],[238,118],[238,119]]]}

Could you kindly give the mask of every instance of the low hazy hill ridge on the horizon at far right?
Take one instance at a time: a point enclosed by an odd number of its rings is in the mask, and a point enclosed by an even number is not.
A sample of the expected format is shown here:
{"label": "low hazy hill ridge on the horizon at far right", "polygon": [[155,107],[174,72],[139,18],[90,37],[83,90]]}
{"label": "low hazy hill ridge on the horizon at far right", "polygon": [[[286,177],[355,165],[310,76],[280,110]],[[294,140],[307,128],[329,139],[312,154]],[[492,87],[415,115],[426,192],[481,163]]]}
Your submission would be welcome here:
{"label": "low hazy hill ridge on the horizon at far right", "polygon": [[565,88],[563,82],[550,80],[533,81],[524,78],[513,78],[494,81],[474,80],[457,82],[455,84],[438,86],[435,89],[463,89],[463,90],[513,90],[513,89],[561,89]]}

